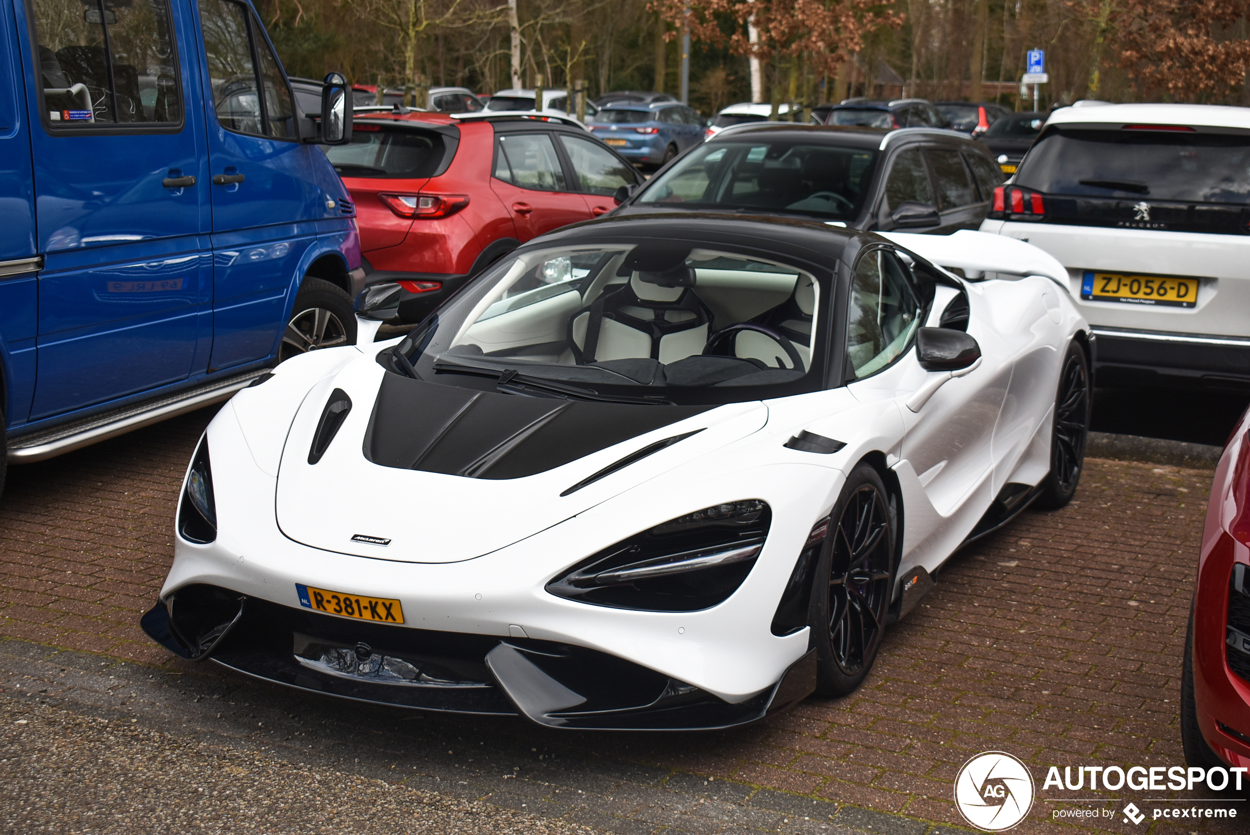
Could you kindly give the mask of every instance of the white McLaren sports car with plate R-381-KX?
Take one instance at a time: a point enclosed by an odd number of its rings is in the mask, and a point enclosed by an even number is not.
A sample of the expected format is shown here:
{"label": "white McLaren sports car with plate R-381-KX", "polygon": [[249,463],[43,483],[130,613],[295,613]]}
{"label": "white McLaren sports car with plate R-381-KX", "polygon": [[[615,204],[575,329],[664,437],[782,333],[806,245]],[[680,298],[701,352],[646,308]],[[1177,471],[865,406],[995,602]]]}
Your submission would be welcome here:
{"label": "white McLaren sports car with plate R-381-KX", "polygon": [[980,232],[534,240],[402,339],[362,325],[226,403],[142,625],[306,690],[560,728],[845,694],[955,550],[1076,489],[1092,339],[1065,280]]}

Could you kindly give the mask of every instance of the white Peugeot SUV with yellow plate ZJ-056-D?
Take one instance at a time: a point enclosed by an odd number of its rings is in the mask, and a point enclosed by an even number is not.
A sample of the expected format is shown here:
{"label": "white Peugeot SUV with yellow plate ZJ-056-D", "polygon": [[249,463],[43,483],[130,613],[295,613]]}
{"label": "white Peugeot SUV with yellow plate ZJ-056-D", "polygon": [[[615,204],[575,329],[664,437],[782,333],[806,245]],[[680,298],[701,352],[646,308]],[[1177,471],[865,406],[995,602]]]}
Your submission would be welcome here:
{"label": "white Peugeot SUV with yellow plate ZJ-056-D", "polygon": [[1056,110],[990,210],[1068,268],[1100,384],[1250,384],[1250,109]]}

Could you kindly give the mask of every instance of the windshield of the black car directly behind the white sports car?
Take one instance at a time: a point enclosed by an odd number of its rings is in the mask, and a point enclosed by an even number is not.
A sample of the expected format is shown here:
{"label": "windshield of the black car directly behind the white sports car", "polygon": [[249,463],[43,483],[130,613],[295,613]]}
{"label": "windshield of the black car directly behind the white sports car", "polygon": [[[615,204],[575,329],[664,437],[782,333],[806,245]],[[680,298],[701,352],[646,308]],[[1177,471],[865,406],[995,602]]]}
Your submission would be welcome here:
{"label": "windshield of the black car directly behind the white sports car", "polygon": [[724,141],[679,160],[640,206],[756,210],[852,220],[868,196],[876,151],[786,140]]}

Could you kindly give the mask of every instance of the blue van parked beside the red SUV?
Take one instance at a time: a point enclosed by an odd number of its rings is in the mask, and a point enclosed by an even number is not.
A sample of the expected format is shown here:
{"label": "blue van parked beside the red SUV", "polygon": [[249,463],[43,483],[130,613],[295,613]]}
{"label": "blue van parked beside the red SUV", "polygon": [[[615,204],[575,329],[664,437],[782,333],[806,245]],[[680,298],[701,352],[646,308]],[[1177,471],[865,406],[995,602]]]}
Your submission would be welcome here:
{"label": "blue van parked beside the red SUV", "polygon": [[0,0],[0,487],[355,341],[345,96],[248,0]]}

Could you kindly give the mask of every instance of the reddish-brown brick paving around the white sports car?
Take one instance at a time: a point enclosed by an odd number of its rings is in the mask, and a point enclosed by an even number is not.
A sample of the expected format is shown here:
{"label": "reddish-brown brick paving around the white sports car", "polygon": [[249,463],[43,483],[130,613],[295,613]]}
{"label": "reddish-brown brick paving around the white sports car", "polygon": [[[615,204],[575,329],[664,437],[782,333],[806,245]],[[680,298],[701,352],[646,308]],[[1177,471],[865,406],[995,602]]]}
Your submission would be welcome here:
{"label": "reddish-brown brick paving around the white sports car", "polygon": [[[209,417],[188,416],[9,471],[0,499],[0,637],[194,674],[184,683],[202,678],[221,683],[212,686],[241,686],[240,679],[215,668],[170,659],[136,627],[172,557],[178,486]],[[790,808],[780,806],[788,803],[799,804],[792,809],[811,804],[821,810],[814,820],[836,813],[836,824],[886,833],[936,833],[934,826],[961,825],[951,804],[952,779],[964,760],[982,750],[1021,758],[1039,778],[1039,788],[1050,765],[1179,765],[1180,659],[1210,476],[1088,462],[1069,508],[1026,513],[951,560],[924,604],[890,630],[864,688],[840,700],[810,699],[755,728],[574,739],[520,723],[438,719],[421,724],[420,731],[411,723],[406,726],[416,734],[416,748],[421,733],[441,748],[458,733],[471,739],[485,729],[488,744],[502,746],[504,759],[511,748],[538,750],[535,743],[565,756],[590,750],[646,766],[650,776],[638,783],[639,793],[651,786],[646,790],[664,789],[689,800],[710,793],[701,785],[708,781],[716,790],[709,796],[739,804],[735,809],[762,805],[786,813]],[[18,679],[8,680],[0,689],[20,691],[11,684]],[[270,690],[264,696],[270,704],[299,703],[308,705],[300,710],[331,714],[338,709],[325,706],[326,700]],[[405,714],[369,715],[400,721],[395,716]],[[532,780],[509,784],[510,791]],[[549,784],[555,781],[534,783]],[[614,791],[622,791],[614,785]],[[546,791],[535,796],[562,809],[559,791]],[[1041,798],[1055,795],[1041,791]],[[1146,805],[1141,793],[1108,796],[1121,799],[1118,808],[1129,799]],[[700,831],[688,825],[689,815],[660,820],[638,811],[655,804],[638,800],[630,806],[619,796],[612,804],[604,806],[595,825]],[[1030,820],[1014,831],[1145,831],[1146,826],[1121,824],[1119,814],[1111,823],[1085,828],[1052,824],[1055,808],[1039,801]],[[625,818],[645,825],[626,828]],[[719,829],[706,831],[782,825],[765,818],[735,819],[725,813]],[[790,820],[784,819],[785,826],[792,826]],[[1160,823],[1150,831],[1224,830],[1198,825],[1174,830]]]}

